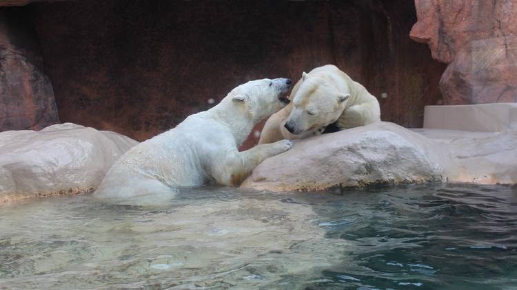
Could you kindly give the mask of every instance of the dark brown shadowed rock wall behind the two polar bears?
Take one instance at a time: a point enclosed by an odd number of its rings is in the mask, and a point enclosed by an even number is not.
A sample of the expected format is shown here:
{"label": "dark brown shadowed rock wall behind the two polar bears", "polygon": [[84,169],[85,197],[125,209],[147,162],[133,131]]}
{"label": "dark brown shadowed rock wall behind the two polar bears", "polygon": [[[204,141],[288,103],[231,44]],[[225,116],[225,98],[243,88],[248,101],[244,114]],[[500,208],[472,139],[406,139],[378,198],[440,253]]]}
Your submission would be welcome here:
{"label": "dark brown shadowed rock wall behind the two polar bears", "polygon": [[26,9],[61,120],[136,140],[210,108],[210,99],[247,80],[298,80],[327,63],[378,97],[383,120],[421,126],[423,107],[442,98],[445,65],[407,36],[416,22],[412,0],[96,0]]}

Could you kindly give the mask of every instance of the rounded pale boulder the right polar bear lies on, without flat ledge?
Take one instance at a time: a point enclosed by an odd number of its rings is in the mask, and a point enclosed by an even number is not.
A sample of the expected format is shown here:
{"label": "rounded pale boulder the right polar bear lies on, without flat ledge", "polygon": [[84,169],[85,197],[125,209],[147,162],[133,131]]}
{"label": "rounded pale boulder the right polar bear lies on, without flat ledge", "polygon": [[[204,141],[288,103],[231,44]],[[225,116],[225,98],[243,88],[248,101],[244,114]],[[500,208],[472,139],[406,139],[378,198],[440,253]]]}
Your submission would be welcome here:
{"label": "rounded pale boulder the right polar bear lies on, without flat ledge", "polygon": [[389,122],[376,122],[301,140],[266,159],[242,187],[325,190],[375,184],[442,181],[447,162],[426,137]]}

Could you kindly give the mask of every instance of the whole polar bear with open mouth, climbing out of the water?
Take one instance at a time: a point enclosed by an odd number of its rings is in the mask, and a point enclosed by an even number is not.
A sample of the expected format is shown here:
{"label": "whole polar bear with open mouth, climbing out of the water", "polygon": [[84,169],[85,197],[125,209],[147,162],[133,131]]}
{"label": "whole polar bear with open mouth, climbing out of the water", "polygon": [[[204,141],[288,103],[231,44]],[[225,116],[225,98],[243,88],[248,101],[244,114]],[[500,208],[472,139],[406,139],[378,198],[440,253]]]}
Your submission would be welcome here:
{"label": "whole polar bear with open mouth, climbing out of the water", "polygon": [[206,183],[238,185],[261,161],[291,148],[292,142],[282,140],[237,149],[254,124],[285,107],[290,87],[287,78],[236,87],[212,109],[131,148],[115,161],[94,196],[142,197]]}

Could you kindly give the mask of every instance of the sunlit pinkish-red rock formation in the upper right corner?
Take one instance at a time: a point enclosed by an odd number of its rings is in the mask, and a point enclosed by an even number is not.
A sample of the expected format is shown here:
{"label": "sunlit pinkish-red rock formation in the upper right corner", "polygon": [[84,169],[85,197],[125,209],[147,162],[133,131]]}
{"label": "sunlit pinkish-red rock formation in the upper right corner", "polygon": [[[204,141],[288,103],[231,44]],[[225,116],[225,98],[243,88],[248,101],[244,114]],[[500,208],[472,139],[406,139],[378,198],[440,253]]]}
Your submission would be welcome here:
{"label": "sunlit pinkish-red rock formation in the upper right corner", "polygon": [[444,104],[517,102],[517,2],[415,0],[409,34],[449,63],[440,80]]}

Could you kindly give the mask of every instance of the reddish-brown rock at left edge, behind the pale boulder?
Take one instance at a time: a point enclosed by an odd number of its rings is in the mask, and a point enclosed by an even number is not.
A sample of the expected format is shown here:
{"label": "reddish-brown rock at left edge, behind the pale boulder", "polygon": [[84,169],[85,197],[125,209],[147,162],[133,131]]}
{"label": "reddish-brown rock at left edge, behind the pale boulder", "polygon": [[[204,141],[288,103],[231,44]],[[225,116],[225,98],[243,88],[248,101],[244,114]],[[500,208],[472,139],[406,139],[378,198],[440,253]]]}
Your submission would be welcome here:
{"label": "reddish-brown rock at left edge, behind the pale boulder", "polygon": [[28,14],[0,8],[0,131],[59,122],[36,39]]}

